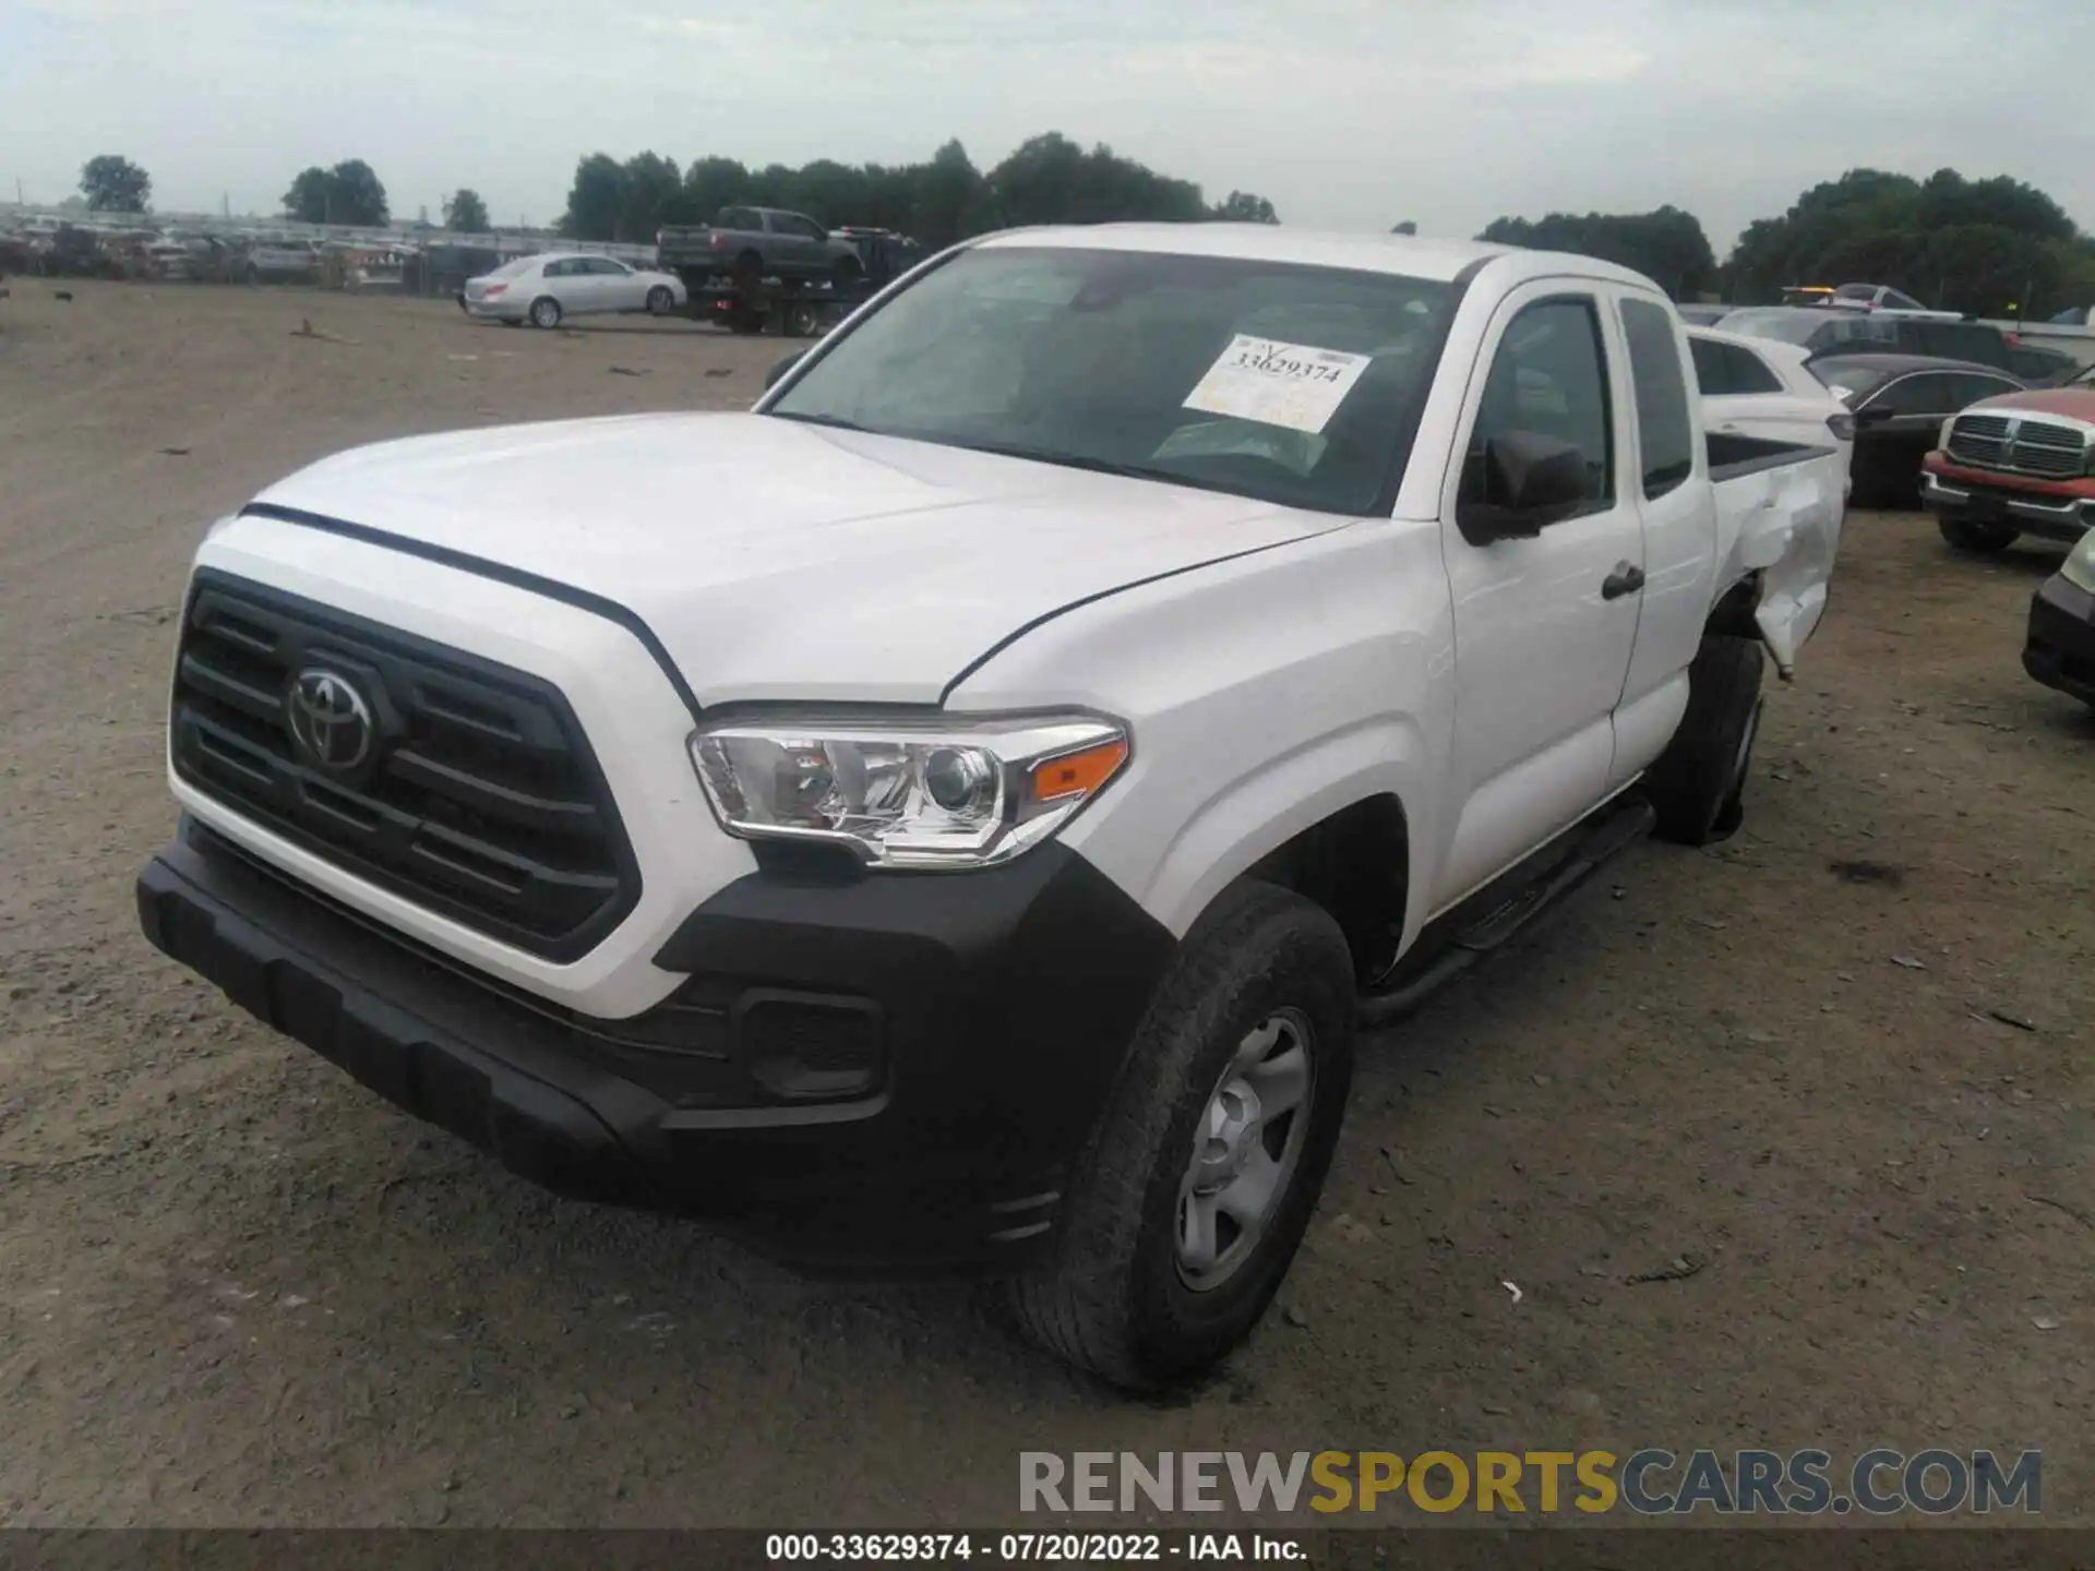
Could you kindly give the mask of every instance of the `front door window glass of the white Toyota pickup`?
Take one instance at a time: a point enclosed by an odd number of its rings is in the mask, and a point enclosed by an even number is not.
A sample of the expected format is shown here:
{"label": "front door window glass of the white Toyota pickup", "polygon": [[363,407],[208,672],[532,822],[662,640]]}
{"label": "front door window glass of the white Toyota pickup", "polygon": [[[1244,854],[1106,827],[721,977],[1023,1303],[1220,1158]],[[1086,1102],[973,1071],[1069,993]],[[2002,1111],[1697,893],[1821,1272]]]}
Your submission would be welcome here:
{"label": "front door window glass of the white Toyota pickup", "polygon": [[[1680,381],[1678,369],[1674,381]],[[1494,465],[1485,455],[1492,442],[1525,446],[1538,436],[1569,444],[1584,459],[1586,505],[1580,511],[1613,501],[1607,352],[1601,348],[1601,314],[1588,295],[1540,300],[1506,327],[1471,427],[1462,503],[1513,505],[1513,499],[1490,494]]]}

